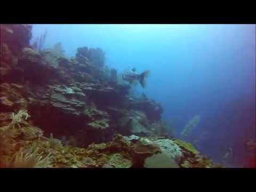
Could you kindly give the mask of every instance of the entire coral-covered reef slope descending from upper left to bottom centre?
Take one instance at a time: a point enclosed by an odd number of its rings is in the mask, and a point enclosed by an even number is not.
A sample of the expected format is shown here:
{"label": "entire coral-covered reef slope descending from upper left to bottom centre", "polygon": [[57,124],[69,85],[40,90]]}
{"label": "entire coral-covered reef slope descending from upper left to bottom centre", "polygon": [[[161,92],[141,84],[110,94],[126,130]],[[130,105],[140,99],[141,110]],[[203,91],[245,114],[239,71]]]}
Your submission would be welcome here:
{"label": "entire coral-covered reef slope descending from upper left to bottom centre", "polygon": [[60,43],[38,51],[30,38],[30,25],[1,25],[0,166],[219,166],[164,134],[162,106],[132,97],[101,49],[68,58]]}

